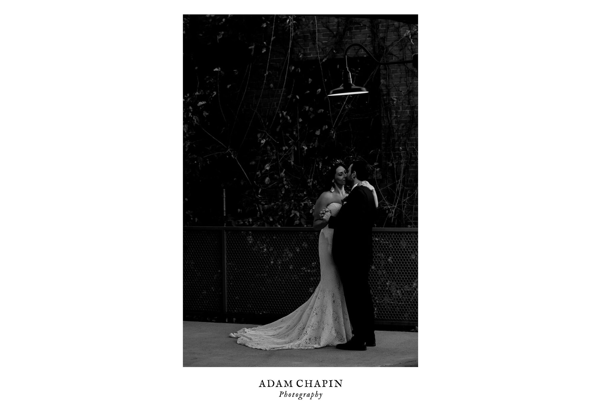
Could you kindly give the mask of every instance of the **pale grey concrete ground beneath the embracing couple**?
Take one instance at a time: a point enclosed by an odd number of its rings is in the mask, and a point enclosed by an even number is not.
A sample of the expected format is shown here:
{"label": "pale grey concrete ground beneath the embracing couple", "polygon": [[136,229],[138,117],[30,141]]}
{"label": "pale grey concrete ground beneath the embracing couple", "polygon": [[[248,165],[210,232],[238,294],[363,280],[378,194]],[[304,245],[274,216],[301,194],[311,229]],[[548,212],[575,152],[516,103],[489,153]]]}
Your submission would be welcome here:
{"label": "pale grey concrete ground beneath the embracing couple", "polygon": [[183,366],[418,366],[416,332],[376,331],[376,346],[366,351],[336,347],[268,351],[237,344],[236,338],[228,336],[243,327],[239,323],[185,321]]}

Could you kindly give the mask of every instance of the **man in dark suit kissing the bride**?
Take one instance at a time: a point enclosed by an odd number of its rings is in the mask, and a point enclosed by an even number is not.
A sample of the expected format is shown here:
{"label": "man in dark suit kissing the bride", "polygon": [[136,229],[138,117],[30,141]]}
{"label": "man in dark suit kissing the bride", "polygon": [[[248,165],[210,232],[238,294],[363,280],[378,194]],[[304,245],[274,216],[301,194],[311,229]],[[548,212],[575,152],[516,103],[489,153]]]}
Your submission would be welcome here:
{"label": "man in dark suit kissing the bride", "polygon": [[350,324],[353,326],[353,338],[345,344],[338,344],[338,349],[366,350],[366,345],[376,346],[369,284],[373,259],[371,227],[374,225],[376,204],[370,189],[358,186],[367,177],[367,163],[353,162],[346,175],[346,182],[352,183],[353,188],[340,212],[337,216],[332,216],[327,209],[320,212],[329,227],[334,228],[332,257],[340,274]]}

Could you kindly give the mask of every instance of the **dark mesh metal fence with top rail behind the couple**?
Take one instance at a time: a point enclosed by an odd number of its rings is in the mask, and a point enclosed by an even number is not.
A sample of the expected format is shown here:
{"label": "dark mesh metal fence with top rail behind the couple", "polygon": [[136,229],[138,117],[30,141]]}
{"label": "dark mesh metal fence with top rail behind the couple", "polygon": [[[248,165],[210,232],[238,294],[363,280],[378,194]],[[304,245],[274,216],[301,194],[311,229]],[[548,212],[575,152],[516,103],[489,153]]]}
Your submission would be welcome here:
{"label": "dark mesh metal fence with top rail behind the couple", "polygon": [[[417,234],[373,228],[376,323],[417,325]],[[184,227],[183,239],[185,314],[281,317],[319,284],[319,231],[310,227]]]}

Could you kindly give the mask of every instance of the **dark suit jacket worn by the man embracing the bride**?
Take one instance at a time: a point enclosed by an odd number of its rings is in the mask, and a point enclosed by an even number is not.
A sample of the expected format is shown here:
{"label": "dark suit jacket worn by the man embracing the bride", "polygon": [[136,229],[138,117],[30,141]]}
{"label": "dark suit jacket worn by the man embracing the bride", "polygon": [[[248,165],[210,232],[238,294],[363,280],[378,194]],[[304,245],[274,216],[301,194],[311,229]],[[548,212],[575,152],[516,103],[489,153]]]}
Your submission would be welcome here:
{"label": "dark suit jacket worn by the man embracing the bride", "polygon": [[375,217],[374,197],[365,186],[352,189],[338,215],[330,217],[328,227],[334,229],[332,257],[339,271],[369,269],[373,260],[371,228]]}

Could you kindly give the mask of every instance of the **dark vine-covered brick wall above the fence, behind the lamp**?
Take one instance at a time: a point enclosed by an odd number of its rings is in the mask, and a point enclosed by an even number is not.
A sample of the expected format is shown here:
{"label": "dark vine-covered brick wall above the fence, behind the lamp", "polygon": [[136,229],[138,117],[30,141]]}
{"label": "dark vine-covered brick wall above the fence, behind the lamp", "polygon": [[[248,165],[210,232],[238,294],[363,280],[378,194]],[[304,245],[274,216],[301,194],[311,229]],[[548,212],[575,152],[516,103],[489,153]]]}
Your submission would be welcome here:
{"label": "dark vine-covered brick wall above the fence, behind the lamp", "polygon": [[[310,226],[334,159],[373,166],[378,227],[417,227],[416,16],[184,16],[184,225]],[[225,209],[224,216],[224,189]],[[329,189],[329,188],[327,188]]]}

